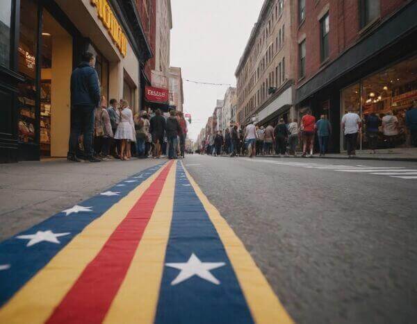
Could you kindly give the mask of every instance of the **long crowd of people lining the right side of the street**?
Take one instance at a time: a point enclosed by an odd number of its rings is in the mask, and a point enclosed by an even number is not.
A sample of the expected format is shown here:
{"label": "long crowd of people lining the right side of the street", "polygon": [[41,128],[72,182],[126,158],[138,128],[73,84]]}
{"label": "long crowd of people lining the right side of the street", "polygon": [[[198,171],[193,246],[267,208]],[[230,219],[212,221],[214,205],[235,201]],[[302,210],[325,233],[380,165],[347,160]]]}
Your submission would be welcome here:
{"label": "long crowd of people lining the right side of the street", "polygon": [[[417,101],[404,112],[404,116],[386,112],[383,116],[370,113],[361,120],[354,108],[349,108],[341,120],[341,128],[345,137],[346,151],[349,157],[356,155],[359,133],[366,128],[367,145],[376,153],[379,138],[382,137],[386,148],[395,147],[398,142],[409,142],[417,147]],[[232,126],[224,133],[218,131],[208,136],[198,153],[208,155],[297,155],[301,144],[301,156],[311,157],[314,153],[315,138],[318,139],[319,156],[325,156],[328,151],[329,137],[332,135],[332,124],[325,114],[316,120],[307,110],[300,124],[297,119],[286,123],[284,119],[274,125],[255,126],[249,123],[246,127]]]}

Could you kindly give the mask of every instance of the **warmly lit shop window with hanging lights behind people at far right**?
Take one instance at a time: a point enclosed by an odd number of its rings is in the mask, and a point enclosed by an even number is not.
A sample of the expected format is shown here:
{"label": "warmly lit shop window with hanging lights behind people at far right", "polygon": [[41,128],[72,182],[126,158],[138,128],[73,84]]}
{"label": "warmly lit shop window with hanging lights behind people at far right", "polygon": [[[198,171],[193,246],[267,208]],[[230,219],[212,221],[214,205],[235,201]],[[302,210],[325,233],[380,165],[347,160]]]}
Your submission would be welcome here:
{"label": "warmly lit shop window with hanging lights behind people at far right", "polygon": [[[358,148],[370,148],[370,134],[368,134],[370,132],[367,130],[370,114],[375,114],[379,119],[377,139],[373,146],[376,148],[408,147],[411,143],[409,130],[405,126],[405,112],[416,99],[417,56],[414,56],[343,89],[341,116],[352,107],[361,117],[363,127]],[[389,117],[391,115],[395,118]],[[395,123],[393,133],[396,135],[389,135],[387,127],[384,129],[383,119]]]}

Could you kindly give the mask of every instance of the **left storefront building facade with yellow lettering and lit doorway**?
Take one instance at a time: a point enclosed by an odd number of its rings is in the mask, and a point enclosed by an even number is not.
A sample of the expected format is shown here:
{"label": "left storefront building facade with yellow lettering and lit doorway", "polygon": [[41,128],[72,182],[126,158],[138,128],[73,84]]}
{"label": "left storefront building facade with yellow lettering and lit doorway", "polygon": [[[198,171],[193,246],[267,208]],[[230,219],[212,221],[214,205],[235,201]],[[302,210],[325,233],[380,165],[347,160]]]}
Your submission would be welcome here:
{"label": "left storefront building facade with yellow lettering and lit doorway", "polygon": [[3,0],[0,161],[67,155],[70,76],[97,56],[101,94],[139,109],[140,65],[152,56],[133,0]]}

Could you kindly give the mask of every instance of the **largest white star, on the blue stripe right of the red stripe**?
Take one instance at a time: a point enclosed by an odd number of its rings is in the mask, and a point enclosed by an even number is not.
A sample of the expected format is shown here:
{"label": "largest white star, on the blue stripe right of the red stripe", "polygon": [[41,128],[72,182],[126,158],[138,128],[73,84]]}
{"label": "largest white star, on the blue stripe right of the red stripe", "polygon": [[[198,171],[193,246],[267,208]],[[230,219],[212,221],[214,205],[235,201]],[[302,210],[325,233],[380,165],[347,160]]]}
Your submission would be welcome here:
{"label": "largest white star, on the blue stripe right of the red stripe", "polygon": [[193,275],[199,278],[212,282],[213,284],[220,284],[220,281],[210,273],[210,270],[224,266],[224,262],[201,262],[199,258],[193,253],[186,263],[166,263],[166,266],[181,270],[177,278],[175,278],[171,285],[179,284],[185,280],[190,279]]}

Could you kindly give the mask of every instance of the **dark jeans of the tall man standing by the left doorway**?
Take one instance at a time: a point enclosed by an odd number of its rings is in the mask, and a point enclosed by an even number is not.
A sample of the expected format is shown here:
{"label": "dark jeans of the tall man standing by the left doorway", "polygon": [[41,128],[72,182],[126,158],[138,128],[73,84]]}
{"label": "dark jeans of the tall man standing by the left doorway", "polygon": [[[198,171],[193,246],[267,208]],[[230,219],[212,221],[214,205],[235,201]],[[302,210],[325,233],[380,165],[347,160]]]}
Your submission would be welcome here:
{"label": "dark jeans of the tall man standing by the left doorway", "polygon": [[71,108],[70,155],[79,152],[79,138],[83,134],[85,157],[92,157],[92,133],[94,131],[94,107],[76,105]]}

